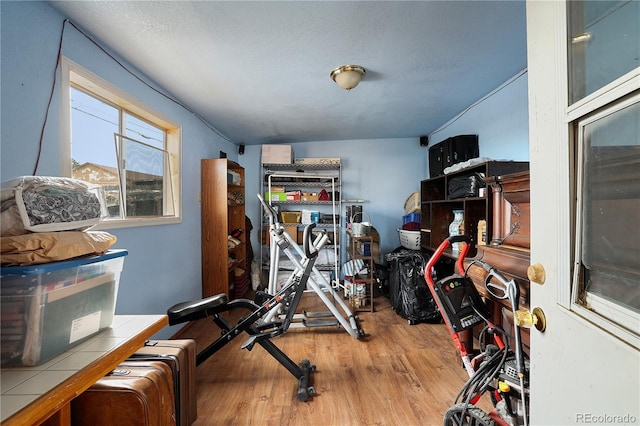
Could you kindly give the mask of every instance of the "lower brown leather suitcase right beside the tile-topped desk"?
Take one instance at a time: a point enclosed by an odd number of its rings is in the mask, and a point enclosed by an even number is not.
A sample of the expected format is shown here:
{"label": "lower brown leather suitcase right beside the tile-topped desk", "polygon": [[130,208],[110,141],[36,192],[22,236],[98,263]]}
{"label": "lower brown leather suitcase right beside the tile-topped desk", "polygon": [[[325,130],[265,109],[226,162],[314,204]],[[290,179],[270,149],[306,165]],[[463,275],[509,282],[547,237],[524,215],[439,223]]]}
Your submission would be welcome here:
{"label": "lower brown leather suitcase right beside the tile-topped desk", "polygon": [[167,364],[123,362],[71,401],[71,424],[175,426],[174,398]]}

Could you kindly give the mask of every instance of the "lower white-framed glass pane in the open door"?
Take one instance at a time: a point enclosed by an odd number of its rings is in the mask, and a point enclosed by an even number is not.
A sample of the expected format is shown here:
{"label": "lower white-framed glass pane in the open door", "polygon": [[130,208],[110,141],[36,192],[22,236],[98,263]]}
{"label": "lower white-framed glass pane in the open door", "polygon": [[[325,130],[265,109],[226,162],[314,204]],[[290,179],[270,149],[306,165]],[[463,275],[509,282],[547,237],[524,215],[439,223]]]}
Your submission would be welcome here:
{"label": "lower white-framed glass pane in the open door", "polygon": [[581,120],[578,134],[576,302],[633,330],[640,313],[640,96]]}

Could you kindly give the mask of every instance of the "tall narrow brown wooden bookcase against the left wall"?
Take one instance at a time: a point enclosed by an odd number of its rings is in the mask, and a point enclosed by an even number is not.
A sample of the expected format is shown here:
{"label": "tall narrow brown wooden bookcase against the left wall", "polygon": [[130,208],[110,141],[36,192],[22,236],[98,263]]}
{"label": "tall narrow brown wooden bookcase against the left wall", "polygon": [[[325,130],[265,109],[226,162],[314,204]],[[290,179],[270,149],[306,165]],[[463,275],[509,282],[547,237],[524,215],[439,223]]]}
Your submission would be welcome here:
{"label": "tall narrow brown wooden bookcase against the left wall", "polygon": [[232,299],[248,289],[244,183],[244,168],[237,163],[226,158],[202,160],[203,297],[225,293]]}

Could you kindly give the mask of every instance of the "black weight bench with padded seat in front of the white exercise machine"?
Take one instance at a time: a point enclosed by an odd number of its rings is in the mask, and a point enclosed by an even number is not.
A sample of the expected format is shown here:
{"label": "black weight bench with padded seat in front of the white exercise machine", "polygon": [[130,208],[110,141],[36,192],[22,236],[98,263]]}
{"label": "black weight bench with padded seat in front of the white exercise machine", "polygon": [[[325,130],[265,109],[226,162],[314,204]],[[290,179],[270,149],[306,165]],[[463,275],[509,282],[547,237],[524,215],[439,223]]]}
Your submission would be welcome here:
{"label": "black weight bench with padded seat in front of the white exercise machine", "polygon": [[[293,374],[298,380],[297,397],[299,401],[306,401],[309,396],[316,394],[315,388],[309,384],[310,375],[315,371],[316,366],[312,365],[307,359],[302,360],[300,365],[296,364],[271,341],[271,338],[283,334],[289,328],[304,294],[309,275],[313,270],[315,259],[318,255],[317,251],[312,252],[310,250],[310,247],[313,246],[311,244],[311,229],[314,226],[314,224],[308,225],[304,230],[304,248],[308,258],[304,270],[297,274],[289,285],[283,287],[275,295],[259,291],[256,293],[255,301],[252,301],[249,299],[229,300],[227,295],[222,293],[201,300],[181,302],[167,310],[169,325],[212,317],[213,322],[220,328],[221,336],[196,355],[196,365],[200,365],[209,359],[227,343],[242,332],[245,332],[249,335],[249,338],[243,343],[242,349],[250,351],[257,343]],[[272,322],[261,321],[267,312],[278,305],[281,305],[286,311],[283,319]],[[236,308],[245,309],[250,314],[242,317],[237,324],[232,325],[221,314]]]}

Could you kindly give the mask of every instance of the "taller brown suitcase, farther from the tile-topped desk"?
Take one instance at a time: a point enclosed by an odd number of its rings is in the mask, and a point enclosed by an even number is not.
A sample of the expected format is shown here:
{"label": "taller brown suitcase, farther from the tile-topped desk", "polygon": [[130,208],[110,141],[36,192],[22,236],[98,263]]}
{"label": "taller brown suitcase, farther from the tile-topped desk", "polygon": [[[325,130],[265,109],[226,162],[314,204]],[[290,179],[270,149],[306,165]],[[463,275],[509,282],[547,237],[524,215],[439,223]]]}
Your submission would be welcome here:
{"label": "taller brown suitcase, farther from the tile-topped desk", "polygon": [[196,397],[196,341],[193,339],[149,340],[129,360],[162,361],[171,367],[178,426],[189,426],[198,418]]}

